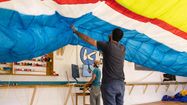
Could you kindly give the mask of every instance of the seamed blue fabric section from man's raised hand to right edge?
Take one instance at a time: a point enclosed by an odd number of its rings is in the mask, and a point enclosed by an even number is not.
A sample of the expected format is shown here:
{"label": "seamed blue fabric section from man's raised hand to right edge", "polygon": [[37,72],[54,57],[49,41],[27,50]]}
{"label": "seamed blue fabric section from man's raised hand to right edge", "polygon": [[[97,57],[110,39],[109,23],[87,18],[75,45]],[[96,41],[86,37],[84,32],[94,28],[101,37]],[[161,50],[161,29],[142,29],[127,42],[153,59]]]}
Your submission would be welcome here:
{"label": "seamed blue fabric section from man's raised hand to right edge", "polygon": [[[76,21],[75,27],[80,32],[100,41],[108,41],[108,35],[116,28],[92,14],[87,14]],[[125,36],[120,43],[126,47],[127,61],[168,74],[187,76],[186,52],[171,49],[136,30],[123,29],[123,31]],[[94,49],[80,39],[78,44]]]}

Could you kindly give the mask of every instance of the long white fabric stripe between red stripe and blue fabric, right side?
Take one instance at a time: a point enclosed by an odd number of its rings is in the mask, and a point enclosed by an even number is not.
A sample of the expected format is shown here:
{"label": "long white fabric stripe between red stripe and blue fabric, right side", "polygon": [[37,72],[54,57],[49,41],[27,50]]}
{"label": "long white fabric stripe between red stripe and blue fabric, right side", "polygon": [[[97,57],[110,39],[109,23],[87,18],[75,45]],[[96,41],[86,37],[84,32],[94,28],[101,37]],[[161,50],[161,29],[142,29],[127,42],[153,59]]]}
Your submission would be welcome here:
{"label": "long white fabric stripe between red stripe and blue fabric, right side", "polygon": [[93,15],[105,20],[111,24],[144,33],[150,38],[163,43],[178,51],[187,51],[187,40],[174,35],[173,33],[164,30],[154,24],[144,23],[132,18],[129,18],[112,8],[105,3],[100,3],[100,6],[93,10]]}

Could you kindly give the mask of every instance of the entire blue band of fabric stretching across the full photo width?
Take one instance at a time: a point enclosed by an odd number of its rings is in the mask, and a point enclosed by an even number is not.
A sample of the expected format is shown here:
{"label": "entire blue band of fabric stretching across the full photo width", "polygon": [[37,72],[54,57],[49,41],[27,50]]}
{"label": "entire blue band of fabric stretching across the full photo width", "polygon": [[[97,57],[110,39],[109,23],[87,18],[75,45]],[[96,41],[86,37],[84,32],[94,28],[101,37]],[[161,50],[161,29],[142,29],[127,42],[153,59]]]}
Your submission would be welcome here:
{"label": "entire blue band of fabric stretching across the full photo width", "polygon": [[[31,59],[67,44],[96,49],[72,33],[72,24],[100,41],[108,41],[108,35],[117,27],[91,13],[73,19],[58,13],[31,16],[0,9],[0,62]],[[186,52],[175,51],[135,30],[123,31],[125,36],[120,43],[126,47],[124,59],[153,70],[187,76]]]}

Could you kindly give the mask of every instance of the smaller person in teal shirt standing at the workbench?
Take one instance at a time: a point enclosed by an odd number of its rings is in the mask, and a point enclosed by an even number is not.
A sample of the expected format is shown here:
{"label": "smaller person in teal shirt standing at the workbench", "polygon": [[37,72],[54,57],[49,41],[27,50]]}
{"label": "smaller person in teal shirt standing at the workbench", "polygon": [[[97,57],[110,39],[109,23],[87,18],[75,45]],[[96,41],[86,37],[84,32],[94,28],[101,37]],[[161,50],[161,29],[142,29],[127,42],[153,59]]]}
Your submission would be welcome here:
{"label": "smaller person in teal shirt standing at the workbench", "polygon": [[92,78],[85,85],[85,86],[91,86],[90,105],[100,105],[101,71],[99,69],[99,65],[100,65],[100,61],[96,60],[93,65],[94,70],[92,71]]}

